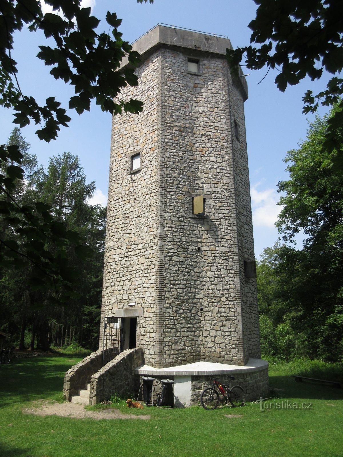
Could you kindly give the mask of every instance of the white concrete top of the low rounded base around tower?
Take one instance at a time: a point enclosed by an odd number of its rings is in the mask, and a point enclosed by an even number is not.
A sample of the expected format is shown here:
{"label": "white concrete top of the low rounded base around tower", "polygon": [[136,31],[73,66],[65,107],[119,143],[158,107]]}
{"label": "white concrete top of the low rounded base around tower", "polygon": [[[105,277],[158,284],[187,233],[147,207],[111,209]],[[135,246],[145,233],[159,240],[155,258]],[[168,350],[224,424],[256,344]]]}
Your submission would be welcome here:
{"label": "white concrete top of the low rounded base around tower", "polygon": [[135,369],[135,373],[144,376],[203,376],[222,375],[260,371],[268,367],[268,362],[261,359],[249,359],[247,365],[227,365],[215,362],[195,362],[178,367],[154,368],[149,365],[142,365]]}

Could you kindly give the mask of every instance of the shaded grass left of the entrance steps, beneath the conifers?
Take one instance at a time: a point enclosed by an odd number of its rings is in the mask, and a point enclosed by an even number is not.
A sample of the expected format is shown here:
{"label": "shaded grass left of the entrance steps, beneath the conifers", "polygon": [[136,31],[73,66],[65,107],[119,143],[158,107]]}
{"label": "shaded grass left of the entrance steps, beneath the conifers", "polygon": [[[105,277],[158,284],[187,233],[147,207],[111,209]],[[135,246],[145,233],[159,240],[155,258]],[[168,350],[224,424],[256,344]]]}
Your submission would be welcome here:
{"label": "shaded grass left of the entrance steps, beneath the conifers", "polygon": [[63,357],[35,357],[0,365],[1,406],[44,399],[58,392],[62,397],[64,372],[75,363]]}

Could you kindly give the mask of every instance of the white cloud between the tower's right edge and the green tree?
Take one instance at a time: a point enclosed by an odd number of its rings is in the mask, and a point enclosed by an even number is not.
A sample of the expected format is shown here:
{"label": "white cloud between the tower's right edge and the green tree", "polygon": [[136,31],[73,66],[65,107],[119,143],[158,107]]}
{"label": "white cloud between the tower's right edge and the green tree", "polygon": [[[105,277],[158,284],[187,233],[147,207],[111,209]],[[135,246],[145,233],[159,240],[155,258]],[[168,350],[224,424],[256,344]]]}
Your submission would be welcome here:
{"label": "white cloud between the tower's right edge and the green tree", "polygon": [[274,228],[282,209],[277,205],[279,195],[273,188],[258,191],[260,185],[258,182],[251,188],[252,223],[254,227]]}

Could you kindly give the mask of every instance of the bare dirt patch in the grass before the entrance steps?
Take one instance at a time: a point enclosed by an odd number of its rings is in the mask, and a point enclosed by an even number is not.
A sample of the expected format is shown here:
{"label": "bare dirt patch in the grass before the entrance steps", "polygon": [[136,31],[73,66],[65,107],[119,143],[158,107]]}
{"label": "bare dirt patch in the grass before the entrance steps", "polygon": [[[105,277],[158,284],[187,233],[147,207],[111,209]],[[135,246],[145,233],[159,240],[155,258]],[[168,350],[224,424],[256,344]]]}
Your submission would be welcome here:
{"label": "bare dirt patch in the grass before the entrance steps", "polygon": [[150,419],[150,415],[123,414],[118,409],[108,408],[99,411],[86,411],[82,404],[71,402],[66,403],[43,403],[37,408],[34,404],[32,408],[23,409],[24,414],[35,414],[37,416],[63,416],[75,419]]}

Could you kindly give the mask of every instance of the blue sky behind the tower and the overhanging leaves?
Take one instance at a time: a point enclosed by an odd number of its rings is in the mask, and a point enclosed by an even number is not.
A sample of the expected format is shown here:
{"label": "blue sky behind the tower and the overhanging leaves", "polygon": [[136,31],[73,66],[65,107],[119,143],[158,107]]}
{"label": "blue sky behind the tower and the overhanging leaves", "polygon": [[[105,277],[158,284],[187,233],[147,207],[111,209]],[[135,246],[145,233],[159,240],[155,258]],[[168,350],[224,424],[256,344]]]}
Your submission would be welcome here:
{"label": "blue sky behind the tower and the overhanging leaves", "polygon": [[[99,32],[108,32],[105,21],[107,11],[116,12],[123,19],[119,30],[123,38],[133,42],[158,23],[187,27],[194,30],[217,33],[230,38],[234,47],[250,42],[249,22],[255,17],[256,4],[252,0],[155,0],[153,5],[137,4],[136,0],[85,0],[92,7],[92,14],[101,20]],[[18,79],[25,95],[38,101],[55,96],[64,107],[73,96],[71,86],[56,81],[49,75],[50,67],[35,56],[38,46],[45,44],[43,33],[23,30],[16,34],[12,58],[18,63]],[[252,195],[255,255],[271,246],[278,238],[274,223],[280,207],[277,184],[288,178],[283,159],[286,152],[297,148],[305,138],[307,119],[302,114],[302,96],[308,88],[315,93],[322,90],[328,77],[312,83],[303,80],[300,85],[288,87],[285,93],[274,85],[276,73],[270,71],[262,83],[266,70],[247,71],[249,99],[245,102],[247,146]],[[319,114],[325,114],[323,108]],[[91,112],[79,116],[75,111],[70,128],[61,127],[59,138],[50,143],[42,142],[35,135],[37,127],[22,129],[23,136],[31,143],[32,154],[44,166],[52,155],[70,151],[78,155],[88,181],[96,181],[94,203],[107,204],[108,168],[111,138],[111,116],[102,113],[95,104]],[[0,141],[5,143],[11,130],[13,116],[10,110],[0,108]]]}

